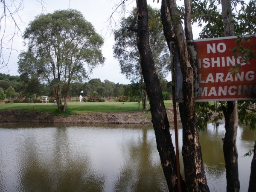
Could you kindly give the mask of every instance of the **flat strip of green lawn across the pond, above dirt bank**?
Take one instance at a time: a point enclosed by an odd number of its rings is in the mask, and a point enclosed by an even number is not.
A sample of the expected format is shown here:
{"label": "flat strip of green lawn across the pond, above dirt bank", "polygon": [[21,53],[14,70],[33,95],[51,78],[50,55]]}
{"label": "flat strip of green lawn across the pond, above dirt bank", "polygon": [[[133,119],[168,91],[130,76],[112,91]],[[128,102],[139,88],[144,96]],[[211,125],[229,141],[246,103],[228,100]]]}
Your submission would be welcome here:
{"label": "flat strip of green lawn across the pond, above dirt bank", "polygon": [[[165,101],[165,106],[172,106],[172,101]],[[150,108],[148,103],[148,108]],[[13,103],[0,104],[0,111],[2,110],[36,110],[49,111],[58,114],[56,103]],[[87,112],[125,112],[125,111],[141,111],[142,105],[137,102],[70,102],[67,103],[66,115],[74,113]]]}

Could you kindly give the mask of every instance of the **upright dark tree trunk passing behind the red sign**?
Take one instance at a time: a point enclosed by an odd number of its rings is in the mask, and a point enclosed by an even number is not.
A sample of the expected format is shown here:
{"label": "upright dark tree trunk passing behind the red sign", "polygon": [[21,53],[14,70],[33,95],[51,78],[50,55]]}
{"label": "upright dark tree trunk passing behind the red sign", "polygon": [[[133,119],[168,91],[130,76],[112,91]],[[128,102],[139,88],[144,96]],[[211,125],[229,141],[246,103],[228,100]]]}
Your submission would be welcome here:
{"label": "upright dark tree trunk passing behind the red sign", "polygon": [[[230,0],[222,0],[222,20],[224,36],[234,35],[234,25]],[[225,117],[225,137],[223,143],[224,160],[226,167],[227,192],[239,192],[238,154],[236,148],[236,134],[238,126],[237,101],[227,101],[227,108],[222,105]]]}

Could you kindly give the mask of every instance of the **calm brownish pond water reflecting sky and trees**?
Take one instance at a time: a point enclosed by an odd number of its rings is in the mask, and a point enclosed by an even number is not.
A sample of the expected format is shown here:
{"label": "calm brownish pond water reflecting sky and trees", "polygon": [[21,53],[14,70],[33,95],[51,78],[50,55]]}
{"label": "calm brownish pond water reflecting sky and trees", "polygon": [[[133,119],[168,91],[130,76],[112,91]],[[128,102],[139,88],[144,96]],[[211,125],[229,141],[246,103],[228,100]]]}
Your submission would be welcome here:
{"label": "calm brownish pond water reflecting sky and trees", "polygon": [[[181,134],[179,129],[180,151]],[[226,191],[223,137],[223,123],[199,132],[211,191]],[[247,191],[252,158],[243,154],[255,138],[255,132],[239,127],[241,191]],[[167,186],[151,126],[2,124],[0,191],[156,192]]]}

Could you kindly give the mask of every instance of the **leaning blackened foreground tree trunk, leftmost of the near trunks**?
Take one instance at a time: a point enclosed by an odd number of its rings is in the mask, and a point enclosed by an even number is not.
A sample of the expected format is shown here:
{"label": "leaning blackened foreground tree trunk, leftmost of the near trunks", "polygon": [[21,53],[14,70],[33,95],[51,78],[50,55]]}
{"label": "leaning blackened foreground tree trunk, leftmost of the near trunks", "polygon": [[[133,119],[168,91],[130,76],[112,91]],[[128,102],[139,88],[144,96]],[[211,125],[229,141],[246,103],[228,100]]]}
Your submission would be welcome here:
{"label": "leaning blackened foreground tree trunk, leftmost of the near trunks", "polygon": [[152,123],[156,135],[157,150],[169,191],[178,191],[175,150],[169,131],[169,122],[163,102],[160,81],[154,66],[148,33],[148,9],[146,0],[137,0],[137,45],[141,57],[142,73],[149,97]]}

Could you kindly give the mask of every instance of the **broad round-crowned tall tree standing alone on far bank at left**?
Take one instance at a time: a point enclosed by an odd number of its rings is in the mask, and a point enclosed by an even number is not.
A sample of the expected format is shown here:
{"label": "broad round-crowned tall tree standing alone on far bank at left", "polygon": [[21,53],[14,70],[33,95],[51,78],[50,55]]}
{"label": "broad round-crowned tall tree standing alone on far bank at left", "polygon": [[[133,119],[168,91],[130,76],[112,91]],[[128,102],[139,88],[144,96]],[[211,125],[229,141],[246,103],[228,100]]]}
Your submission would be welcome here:
{"label": "broad round-crowned tall tree standing alone on far bank at left", "polygon": [[[20,53],[19,73],[38,76],[48,84],[59,111],[67,108],[70,83],[86,78],[94,67],[105,60],[100,50],[102,37],[77,10],[39,15],[29,23],[24,39],[28,49]],[[86,71],[85,64],[89,66],[89,71]]]}

